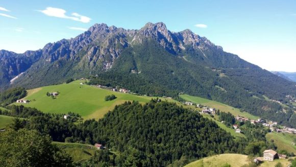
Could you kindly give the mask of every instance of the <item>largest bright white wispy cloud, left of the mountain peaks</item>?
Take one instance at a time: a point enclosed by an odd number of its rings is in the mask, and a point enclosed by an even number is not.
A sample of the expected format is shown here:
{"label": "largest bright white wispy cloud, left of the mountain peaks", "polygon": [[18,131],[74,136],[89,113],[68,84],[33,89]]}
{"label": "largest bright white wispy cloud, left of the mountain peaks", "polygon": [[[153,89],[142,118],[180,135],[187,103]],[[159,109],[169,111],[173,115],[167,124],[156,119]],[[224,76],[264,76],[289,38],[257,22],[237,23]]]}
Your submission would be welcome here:
{"label": "largest bright white wispy cloud, left of the mountain peaks", "polygon": [[52,8],[52,7],[47,7],[45,10],[37,10],[47,16],[52,16],[52,17],[59,17],[59,18],[67,18],[75,21],[80,21],[80,22],[89,22],[91,18],[87,16],[80,15],[78,13],[72,13],[71,16],[66,15],[66,11],[64,9],[60,8]]}

